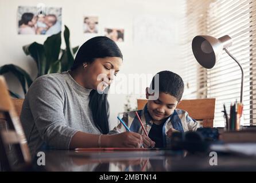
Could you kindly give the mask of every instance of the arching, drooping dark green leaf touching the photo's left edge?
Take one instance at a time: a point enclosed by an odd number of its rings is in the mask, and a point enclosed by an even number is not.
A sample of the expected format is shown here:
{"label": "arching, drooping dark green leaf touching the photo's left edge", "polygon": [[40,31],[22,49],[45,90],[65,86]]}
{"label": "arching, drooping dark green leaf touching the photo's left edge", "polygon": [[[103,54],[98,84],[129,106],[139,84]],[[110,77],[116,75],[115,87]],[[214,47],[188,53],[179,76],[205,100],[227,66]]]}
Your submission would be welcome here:
{"label": "arching, drooping dark green leaf touching the photo's left edge", "polygon": [[13,64],[3,65],[0,67],[0,74],[5,74],[8,72],[13,73],[15,77],[18,78],[23,92],[26,94],[26,83],[28,84],[28,87],[32,84],[32,79],[30,78],[29,74],[25,70],[21,69],[21,67]]}

